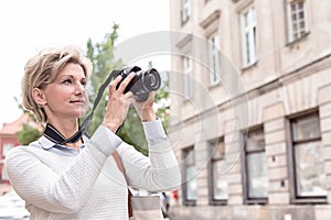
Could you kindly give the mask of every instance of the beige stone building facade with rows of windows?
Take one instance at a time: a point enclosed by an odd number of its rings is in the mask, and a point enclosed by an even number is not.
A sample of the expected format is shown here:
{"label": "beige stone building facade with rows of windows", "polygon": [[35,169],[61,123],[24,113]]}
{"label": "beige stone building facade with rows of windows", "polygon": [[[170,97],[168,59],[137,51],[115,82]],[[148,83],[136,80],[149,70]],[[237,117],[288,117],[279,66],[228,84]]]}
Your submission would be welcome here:
{"label": "beige stone building facade with rows of windows", "polygon": [[171,0],[171,219],[331,216],[331,1]]}

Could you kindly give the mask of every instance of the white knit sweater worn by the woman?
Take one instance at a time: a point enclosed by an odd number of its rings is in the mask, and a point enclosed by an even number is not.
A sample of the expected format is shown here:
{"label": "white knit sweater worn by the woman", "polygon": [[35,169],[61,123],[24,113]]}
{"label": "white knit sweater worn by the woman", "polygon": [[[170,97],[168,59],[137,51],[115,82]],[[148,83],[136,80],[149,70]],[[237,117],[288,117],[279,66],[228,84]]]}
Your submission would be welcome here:
{"label": "white knit sweater worn by the woman", "polygon": [[[126,220],[128,185],[151,191],[178,187],[180,169],[160,121],[145,122],[143,128],[149,157],[103,125],[79,153],[50,147],[51,141],[44,136],[29,146],[12,148],[4,165],[31,220]],[[111,156],[115,150],[126,177]]]}

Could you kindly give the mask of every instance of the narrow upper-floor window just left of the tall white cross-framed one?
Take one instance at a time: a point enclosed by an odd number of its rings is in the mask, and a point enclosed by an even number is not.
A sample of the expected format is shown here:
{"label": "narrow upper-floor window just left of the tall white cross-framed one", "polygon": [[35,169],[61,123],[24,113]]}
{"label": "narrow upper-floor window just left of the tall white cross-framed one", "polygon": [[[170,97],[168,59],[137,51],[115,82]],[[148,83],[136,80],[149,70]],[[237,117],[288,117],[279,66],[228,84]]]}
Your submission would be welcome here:
{"label": "narrow upper-floor window just left of the tall white cross-framed one", "polygon": [[209,56],[210,56],[210,84],[214,86],[221,81],[221,50],[220,50],[220,35],[213,35],[209,40]]}

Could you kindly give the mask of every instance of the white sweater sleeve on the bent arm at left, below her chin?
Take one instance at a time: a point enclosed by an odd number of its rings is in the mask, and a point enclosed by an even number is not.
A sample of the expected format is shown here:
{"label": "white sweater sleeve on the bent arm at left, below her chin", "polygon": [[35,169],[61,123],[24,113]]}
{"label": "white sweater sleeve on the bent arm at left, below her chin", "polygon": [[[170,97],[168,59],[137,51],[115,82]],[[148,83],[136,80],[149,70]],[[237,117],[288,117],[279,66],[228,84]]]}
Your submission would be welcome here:
{"label": "white sweater sleeve on the bent arm at left, below her chin", "polygon": [[[45,151],[33,146],[12,148],[4,165],[10,183],[28,204],[52,212],[73,213],[86,202],[106,158],[119,144],[118,136],[99,127],[61,174],[47,165],[50,161],[42,160]],[[46,160],[63,163],[55,154]]]}

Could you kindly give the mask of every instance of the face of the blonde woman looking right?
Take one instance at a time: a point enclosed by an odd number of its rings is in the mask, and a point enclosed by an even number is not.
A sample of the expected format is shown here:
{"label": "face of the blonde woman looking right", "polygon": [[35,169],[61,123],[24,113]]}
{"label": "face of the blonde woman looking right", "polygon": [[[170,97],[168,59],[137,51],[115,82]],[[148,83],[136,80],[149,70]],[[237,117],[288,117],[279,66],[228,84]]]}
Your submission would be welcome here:
{"label": "face of the blonde woman looking right", "polygon": [[55,81],[49,84],[43,90],[47,118],[76,119],[83,117],[88,105],[86,82],[85,73],[79,64],[66,64]]}

